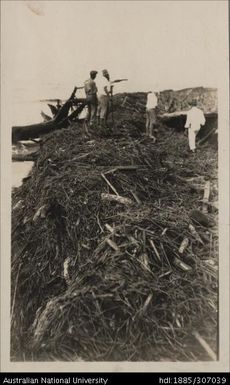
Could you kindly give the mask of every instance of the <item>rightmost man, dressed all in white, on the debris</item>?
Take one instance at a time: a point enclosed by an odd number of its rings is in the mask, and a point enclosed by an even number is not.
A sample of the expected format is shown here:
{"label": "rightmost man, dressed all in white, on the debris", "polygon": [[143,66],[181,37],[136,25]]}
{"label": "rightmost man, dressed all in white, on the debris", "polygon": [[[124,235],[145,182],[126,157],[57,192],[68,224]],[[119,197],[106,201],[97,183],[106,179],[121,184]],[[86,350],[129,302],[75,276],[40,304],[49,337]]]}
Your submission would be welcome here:
{"label": "rightmost man, dressed all in white, on the debris", "polygon": [[205,124],[205,116],[203,111],[197,107],[197,101],[191,102],[192,108],[187,112],[185,128],[188,128],[189,148],[192,152],[196,149],[196,135],[201,126]]}

